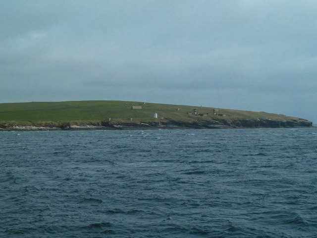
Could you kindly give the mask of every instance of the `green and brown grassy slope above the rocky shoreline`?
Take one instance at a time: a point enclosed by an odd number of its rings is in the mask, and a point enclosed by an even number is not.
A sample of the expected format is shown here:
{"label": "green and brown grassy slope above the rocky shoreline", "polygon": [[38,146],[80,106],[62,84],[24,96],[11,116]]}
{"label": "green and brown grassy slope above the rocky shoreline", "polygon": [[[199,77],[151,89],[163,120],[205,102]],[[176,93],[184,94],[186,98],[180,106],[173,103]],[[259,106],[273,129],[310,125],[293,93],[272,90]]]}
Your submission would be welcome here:
{"label": "green and brown grassy slope above the rocky shoreline", "polygon": [[[139,106],[142,109],[131,109]],[[196,109],[198,115],[190,112]],[[214,112],[216,115],[214,115]],[[154,114],[158,118],[154,118]],[[206,108],[200,106],[182,106],[143,102],[125,101],[71,101],[71,102],[31,102],[0,104],[0,127],[12,125],[59,126],[68,125],[101,125],[102,121],[112,124],[182,121],[233,121],[276,120],[307,121],[284,115],[264,112],[250,112],[229,109]],[[132,119],[132,120],[131,120]],[[239,127],[239,126],[238,126]]]}

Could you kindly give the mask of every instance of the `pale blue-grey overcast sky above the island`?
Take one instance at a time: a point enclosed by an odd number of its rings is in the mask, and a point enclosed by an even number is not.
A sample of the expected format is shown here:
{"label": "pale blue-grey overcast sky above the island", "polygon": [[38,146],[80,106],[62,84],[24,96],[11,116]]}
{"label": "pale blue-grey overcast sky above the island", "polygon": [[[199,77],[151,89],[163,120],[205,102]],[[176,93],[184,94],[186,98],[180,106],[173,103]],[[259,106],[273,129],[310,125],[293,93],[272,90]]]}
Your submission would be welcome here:
{"label": "pale blue-grey overcast sky above the island", "polygon": [[316,0],[0,3],[0,103],[140,101],[317,122]]}

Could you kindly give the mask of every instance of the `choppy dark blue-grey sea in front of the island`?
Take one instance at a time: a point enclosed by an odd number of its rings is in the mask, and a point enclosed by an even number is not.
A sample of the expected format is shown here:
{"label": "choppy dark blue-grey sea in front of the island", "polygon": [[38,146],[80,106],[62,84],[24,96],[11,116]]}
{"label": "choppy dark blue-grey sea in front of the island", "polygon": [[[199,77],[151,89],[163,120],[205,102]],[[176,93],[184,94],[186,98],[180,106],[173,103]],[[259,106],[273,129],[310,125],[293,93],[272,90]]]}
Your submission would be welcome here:
{"label": "choppy dark blue-grey sea in front of the island", "polygon": [[317,128],[0,132],[2,238],[317,238]]}

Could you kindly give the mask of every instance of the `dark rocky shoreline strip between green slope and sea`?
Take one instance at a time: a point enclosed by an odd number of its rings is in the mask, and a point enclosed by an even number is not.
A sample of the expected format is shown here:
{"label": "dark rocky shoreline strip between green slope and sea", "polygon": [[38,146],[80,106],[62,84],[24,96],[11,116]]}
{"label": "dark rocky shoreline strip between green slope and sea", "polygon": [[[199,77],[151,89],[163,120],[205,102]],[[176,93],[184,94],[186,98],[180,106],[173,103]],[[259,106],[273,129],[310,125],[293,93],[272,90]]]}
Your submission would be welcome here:
{"label": "dark rocky shoreline strip between green slope and sea", "polygon": [[272,120],[272,119],[256,119],[256,120],[194,120],[194,121],[151,121],[151,122],[124,122],[113,123],[109,121],[101,121],[94,124],[79,124],[63,126],[52,126],[52,124],[36,125],[0,125],[0,131],[45,131],[45,130],[134,130],[134,129],[228,129],[228,128],[287,128],[287,127],[312,127],[311,121],[305,119],[292,120]]}

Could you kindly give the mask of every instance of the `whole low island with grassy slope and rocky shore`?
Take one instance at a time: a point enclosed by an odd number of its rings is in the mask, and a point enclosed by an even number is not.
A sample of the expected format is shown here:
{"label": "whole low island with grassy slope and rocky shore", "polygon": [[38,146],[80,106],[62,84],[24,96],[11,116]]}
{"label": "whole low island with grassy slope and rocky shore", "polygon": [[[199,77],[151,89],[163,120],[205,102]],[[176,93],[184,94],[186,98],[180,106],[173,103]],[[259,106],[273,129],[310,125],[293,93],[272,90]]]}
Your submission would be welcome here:
{"label": "whole low island with grassy slope and rocky shore", "polygon": [[312,127],[280,114],[129,101],[1,103],[0,131]]}

